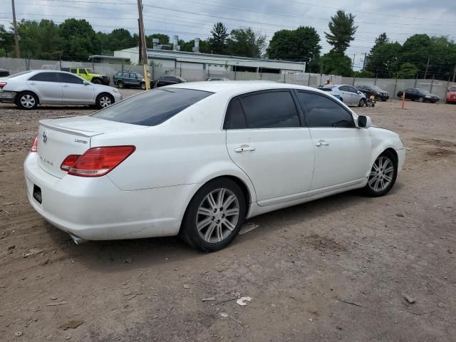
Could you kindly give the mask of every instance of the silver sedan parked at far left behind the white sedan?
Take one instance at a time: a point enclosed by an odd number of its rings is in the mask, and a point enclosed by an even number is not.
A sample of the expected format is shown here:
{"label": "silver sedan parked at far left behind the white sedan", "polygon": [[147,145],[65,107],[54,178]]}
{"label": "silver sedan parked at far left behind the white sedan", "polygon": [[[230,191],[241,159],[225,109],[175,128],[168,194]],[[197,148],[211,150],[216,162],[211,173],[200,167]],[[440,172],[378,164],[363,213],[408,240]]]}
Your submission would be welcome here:
{"label": "silver sedan parked at far left behind the white sedan", "polygon": [[120,100],[117,89],[64,71],[33,70],[0,78],[0,101],[16,103],[21,109],[34,109],[38,104],[105,108]]}

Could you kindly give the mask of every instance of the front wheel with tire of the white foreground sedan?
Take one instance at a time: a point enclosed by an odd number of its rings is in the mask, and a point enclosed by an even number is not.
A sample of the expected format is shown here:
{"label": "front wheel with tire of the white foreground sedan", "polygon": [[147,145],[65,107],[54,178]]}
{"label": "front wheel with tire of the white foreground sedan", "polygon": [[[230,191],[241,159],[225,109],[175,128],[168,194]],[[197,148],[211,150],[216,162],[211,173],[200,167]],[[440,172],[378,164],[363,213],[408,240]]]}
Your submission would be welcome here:
{"label": "front wheel with tire of the white foreground sedan", "polygon": [[364,192],[371,197],[383,196],[391,190],[397,176],[398,160],[392,152],[385,151],[373,163]]}

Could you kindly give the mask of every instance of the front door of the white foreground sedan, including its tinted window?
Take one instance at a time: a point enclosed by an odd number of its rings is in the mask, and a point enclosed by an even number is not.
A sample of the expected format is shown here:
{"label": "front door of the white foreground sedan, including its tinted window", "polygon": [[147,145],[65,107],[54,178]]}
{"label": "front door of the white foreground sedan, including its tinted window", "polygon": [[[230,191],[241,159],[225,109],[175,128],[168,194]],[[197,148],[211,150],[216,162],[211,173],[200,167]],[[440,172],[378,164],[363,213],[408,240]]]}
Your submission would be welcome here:
{"label": "front door of the white foreground sedan, including its tinted window", "polygon": [[356,128],[353,115],[336,100],[299,90],[315,150],[311,190],[362,181],[371,162],[368,130]]}

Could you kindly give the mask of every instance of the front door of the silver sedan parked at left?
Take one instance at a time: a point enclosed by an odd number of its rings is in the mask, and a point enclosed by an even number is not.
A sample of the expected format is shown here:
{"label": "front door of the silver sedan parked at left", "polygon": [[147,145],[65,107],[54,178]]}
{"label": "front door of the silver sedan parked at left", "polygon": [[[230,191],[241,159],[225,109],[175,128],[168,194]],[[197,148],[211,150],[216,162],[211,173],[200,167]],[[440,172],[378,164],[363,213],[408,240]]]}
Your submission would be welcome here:
{"label": "front door of the silver sedan parked at left", "polygon": [[63,90],[63,103],[92,104],[95,103],[92,83],[69,73],[58,73]]}

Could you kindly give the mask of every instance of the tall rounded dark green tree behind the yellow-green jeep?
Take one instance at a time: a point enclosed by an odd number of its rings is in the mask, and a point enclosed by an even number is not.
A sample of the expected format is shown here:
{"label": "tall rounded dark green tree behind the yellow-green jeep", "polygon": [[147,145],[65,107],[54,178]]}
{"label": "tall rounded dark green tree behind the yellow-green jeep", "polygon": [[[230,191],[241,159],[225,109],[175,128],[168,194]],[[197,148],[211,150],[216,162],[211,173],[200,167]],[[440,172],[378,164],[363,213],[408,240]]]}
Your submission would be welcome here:
{"label": "tall rounded dark green tree behind the yellow-green jeep", "polygon": [[87,60],[93,53],[100,53],[101,42],[86,19],[66,19],[60,24],[63,38],[62,58],[73,61]]}

